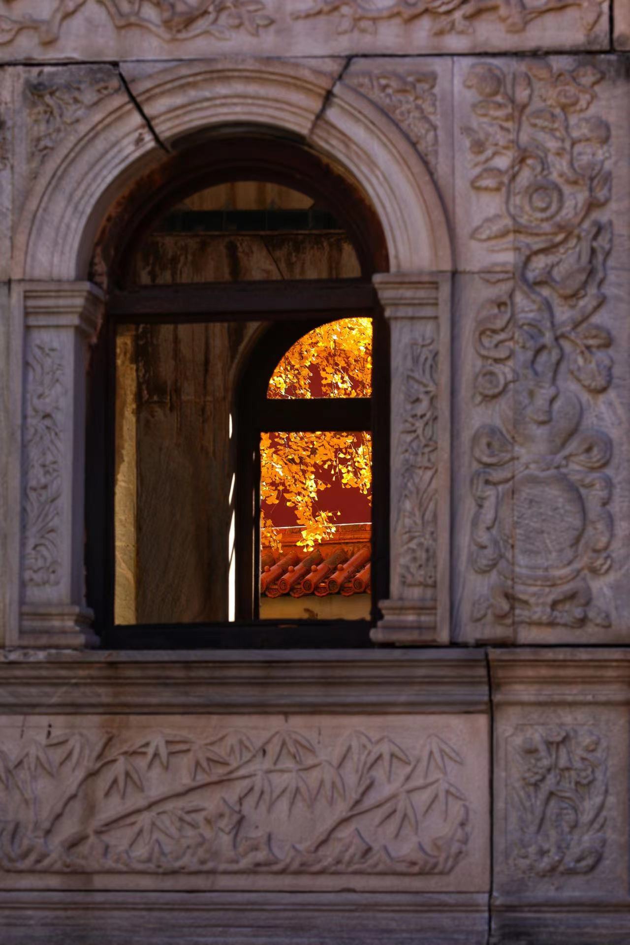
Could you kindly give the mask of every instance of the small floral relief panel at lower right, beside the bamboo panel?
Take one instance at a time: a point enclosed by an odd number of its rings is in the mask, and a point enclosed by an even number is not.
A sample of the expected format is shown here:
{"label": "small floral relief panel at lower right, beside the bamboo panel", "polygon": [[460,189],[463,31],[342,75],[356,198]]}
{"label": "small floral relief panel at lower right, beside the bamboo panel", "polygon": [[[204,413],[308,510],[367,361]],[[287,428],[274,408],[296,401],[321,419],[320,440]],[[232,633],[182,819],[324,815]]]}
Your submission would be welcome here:
{"label": "small floral relief panel at lower right, beside the bamboo panel", "polygon": [[621,706],[502,708],[495,773],[500,900],[626,899],[627,719]]}

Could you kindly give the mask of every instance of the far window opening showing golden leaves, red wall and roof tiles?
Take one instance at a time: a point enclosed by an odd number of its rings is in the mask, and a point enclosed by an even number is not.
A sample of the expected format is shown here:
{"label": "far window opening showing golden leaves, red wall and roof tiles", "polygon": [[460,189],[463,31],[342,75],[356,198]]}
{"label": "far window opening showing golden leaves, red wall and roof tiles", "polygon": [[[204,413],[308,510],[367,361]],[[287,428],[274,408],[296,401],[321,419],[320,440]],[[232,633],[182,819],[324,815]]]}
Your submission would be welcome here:
{"label": "far window opening showing golden leaves, red wall and roof tiles", "polygon": [[[270,399],[369,397],[372,323],[318,326],[284,353]],[[264,432],[262,618],[367,619],[371,572],[371,434]]]}

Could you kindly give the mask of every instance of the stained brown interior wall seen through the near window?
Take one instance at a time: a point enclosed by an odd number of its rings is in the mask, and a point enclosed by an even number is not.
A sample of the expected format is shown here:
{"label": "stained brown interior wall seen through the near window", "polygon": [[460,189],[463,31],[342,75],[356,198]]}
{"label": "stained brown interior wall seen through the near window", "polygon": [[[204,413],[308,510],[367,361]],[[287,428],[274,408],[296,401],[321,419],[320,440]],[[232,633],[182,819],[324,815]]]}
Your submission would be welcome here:
{"label": "stained brown interior wall seen through the near window", "polygon": [[[178,204],[192,212],[303,211],[313,200],[264,182],[222,184]],[[134,254],[132,283],[358,277],[334,232],[169,232],[166,215]],[[237,366],[258,322],[123,326],[117,335],[116,624],[230,616]],[[230,417],[231,413],[231,417]],[[275,614],[265,616],[273,617]]]}

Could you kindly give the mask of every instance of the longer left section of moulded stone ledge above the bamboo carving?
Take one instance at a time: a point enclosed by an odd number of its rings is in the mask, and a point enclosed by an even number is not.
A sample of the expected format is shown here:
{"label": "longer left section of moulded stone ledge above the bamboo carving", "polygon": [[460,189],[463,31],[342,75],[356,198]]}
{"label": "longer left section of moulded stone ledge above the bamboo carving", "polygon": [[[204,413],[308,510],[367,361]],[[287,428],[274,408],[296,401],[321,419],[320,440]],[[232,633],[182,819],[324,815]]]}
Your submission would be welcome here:
{"label": "longer left section of moulded stone ledge above the bamboo carving", "polygon": [[0,711],[485,713],[479,650],[0,651]]}

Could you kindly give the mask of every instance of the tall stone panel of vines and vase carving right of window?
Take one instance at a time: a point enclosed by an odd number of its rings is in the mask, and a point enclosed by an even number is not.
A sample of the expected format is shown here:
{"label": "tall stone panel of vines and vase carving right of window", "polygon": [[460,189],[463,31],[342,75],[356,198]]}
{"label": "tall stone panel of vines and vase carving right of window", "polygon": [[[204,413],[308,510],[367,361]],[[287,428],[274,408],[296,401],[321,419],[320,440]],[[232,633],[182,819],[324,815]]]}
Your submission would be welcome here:
{"label": "tall stone panel of vines and vase carving right of window", "polygon": [[627,639],[621,65],[461,63],[476,270],[458,286],[471,313],[458,329],[470,498],[456,512],[469,532],[457,630],[468,639]]}

